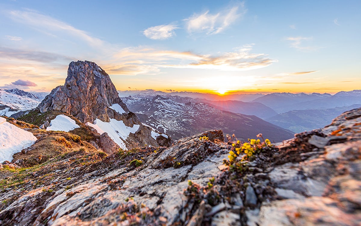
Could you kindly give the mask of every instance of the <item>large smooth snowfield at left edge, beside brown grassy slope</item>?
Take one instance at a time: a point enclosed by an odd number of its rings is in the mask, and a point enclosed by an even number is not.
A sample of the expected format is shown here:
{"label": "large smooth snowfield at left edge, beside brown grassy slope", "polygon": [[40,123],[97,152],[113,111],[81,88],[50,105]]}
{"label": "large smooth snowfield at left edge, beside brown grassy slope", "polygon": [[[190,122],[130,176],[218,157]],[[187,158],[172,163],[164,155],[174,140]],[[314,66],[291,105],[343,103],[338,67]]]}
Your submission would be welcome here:
{"label": "large smooth snowfield at left edge, beside brown grassy slope", "polygon": [[20,129],[0,117],[0,162],[11,161],[13,155],[36,141],[31,132]]}

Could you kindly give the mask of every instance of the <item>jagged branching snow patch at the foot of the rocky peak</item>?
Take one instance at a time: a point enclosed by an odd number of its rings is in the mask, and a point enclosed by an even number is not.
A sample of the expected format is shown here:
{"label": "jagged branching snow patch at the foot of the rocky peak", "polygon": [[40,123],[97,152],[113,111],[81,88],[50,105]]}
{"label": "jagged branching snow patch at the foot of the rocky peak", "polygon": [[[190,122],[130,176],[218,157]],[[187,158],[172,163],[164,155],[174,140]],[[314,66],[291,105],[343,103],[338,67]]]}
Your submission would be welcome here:
{"label": "jagged branching snow patch at the foot of the rocky peak", "polygon": [[126,140],[130,133],[134,134],[136,131],[138,131],[140,127],[140,125],[136,124],[134,124],[133,127],[126,126],[123,121],[118,121],[114,118],[111,118],[110,122],[103,122],[100,119],[95,119],[94,124],[90,122],[85,124],[87,126],[93,127],[100,134],[107,132],[109,137],[112,138],[112,140],[114,140],[114,142],[124,150],[127,150],[127,148],[123,140]]}

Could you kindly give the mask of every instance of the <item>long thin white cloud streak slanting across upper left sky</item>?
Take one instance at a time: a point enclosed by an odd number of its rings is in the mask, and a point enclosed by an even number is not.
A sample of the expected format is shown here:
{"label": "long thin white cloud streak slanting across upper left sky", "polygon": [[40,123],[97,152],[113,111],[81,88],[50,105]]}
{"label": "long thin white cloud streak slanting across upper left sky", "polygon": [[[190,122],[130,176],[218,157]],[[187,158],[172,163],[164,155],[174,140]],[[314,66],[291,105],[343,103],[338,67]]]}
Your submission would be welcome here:
{"label": "long thin white cloud streak slanting across upper left sky", "polygon": [[85,31],[76,29],[65,22],[40,14],[34,10],[13,10],[9,11],[8,15],[14,21],[30,25],[40,31],[43,31],[45,34],[53,35],[51,34],[53,31],[66,32],[69,35],[77,36],[92,47],[100,47],[104,44],[102,40],[88,35]]}

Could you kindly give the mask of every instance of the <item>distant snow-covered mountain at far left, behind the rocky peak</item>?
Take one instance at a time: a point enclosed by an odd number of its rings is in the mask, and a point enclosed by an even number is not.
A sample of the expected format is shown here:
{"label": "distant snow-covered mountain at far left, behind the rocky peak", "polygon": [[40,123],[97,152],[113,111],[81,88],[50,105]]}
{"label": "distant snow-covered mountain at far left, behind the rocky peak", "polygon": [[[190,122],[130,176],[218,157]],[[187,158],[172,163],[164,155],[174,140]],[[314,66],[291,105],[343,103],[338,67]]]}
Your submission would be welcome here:
{"label": "distant snow-covered mountain at far left, behind the rocky peak", "polygon": [[[19,90],[22,91],[22,90]],[[16,92],[16,91],[14,91]],[[22,92],[19,92],[22,93]],[[26,93],[26,92],[25,92]],[[18,113],[25,110],[36,108],[40,103],[39,98],[30,98],[26,94],[25,96],[19,96],[14,93],[0,90],[0,115],[11,116],[14,113]]]}

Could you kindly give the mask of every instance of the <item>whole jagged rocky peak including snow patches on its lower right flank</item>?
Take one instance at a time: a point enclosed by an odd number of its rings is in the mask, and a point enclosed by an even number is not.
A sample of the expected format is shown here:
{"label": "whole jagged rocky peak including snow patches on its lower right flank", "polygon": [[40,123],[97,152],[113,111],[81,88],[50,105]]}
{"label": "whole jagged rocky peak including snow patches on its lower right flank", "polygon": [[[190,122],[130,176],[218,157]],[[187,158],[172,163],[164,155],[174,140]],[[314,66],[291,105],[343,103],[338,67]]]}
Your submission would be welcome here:
{"label": "whole jagged rocky peak including snow patches on its lower right flank", "polygon": [[[40,113],[70,114],[100,134],[108,133],[122,149],[136,145],[159,146],[152,137],[152,129],[129,112],[109,75],[94,62],[70,62],[64,86],[54,88],[37,109]],[[49,123],[44,122],[44,127]],[[171,138],[161,143],[171,144]]]}

